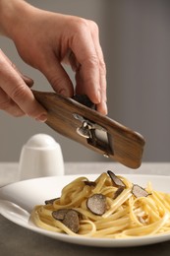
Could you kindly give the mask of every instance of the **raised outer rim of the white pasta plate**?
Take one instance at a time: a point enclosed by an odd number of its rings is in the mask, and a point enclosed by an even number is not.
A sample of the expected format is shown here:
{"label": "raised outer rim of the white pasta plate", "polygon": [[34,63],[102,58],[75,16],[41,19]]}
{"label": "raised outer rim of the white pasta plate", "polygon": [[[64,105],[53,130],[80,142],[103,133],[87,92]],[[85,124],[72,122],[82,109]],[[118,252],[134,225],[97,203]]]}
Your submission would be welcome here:
{"label": "raised outer rim of the white pasta plate", "polygon": [[[116,173],[116,172],[115,172]],[[17,181],[8,185],[5,185],[3,187],[0,188],[0,200],[1,199],[1,193],[3,190],[5,189],[9,189],[10,187],[13,186],[18,186],[21,183],[31,183],[32,181],[39,181],[39,180],[53,180],[53,179],[63,179],[65,177],[68,177],[70,179],[74,179],[76,177],[80,177],[80,176],[86,176],[86,177],[97,177],[99,174],[101,173],[81,173],[81,174],[68,174],[68,175],[64,175],[64,176],[48,176],[48,177],[38,177],[38,178],[33,178],[33,179],[28,179],[28,180],[22,180],[22,181]],[[125,177],[144,177],[144,178],[155,178],[155,179],[170,179],[169,175],[154,175],[154,174],[142,174],[142,173],[138,173],[138,174],[132,174],[132,173],[116,173],[116,175],[121,175],[121,176],[125,176]],[[67,178],[66,178],[67,179]],[[12,202],[13,203],[13,202]],[[65,242],[69,242],[69,243],[74,243],[74,244],[80,244],[80,245],[86,245],[86,246],[96,246],[96,247],[132,247],[132,246],[142,246],[142,245],[149,245],[149,244],[154,244],[154,243],[159,243],[159,242],[163,242],[163,241],[167,241],[170,240],[170,233],[161,233],[161,234],[157,234],[157,235],[145,235],[145,236],[139,236],[139,237],[133,237],[133,238],[96,238],[96,237],[87,237],[87,236],[70,236],[68,234],[65,233],[55,233],[53,231],[50,230],[45,230],[42,229],[38,226],[35,226],[34,224],[30,224],[28,221],[28,224],[24,224],[24,223],[20,223],[17,222],[15,220],[15,218],[13,216],[11,216],[11,218],[8,216],[8,213],[6,213],[5,211],[0,213],[4,218],[6,218],[7,220],[21,225],[25,228],[28,228],[31,231],[37,232],[37,233],[41,233],[45,236],[60,240],[60,241],[65,241]]]}

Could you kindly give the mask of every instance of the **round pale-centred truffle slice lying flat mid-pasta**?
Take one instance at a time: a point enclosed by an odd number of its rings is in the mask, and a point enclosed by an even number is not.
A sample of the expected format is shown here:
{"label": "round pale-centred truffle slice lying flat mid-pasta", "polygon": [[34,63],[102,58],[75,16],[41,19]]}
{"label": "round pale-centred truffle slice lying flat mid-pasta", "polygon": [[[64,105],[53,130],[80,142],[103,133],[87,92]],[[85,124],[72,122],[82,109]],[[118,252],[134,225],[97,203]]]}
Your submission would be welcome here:
{"label": "round pale-centred truffle slice lying flat mid-pasta", "polygon": [[101,216],[106,211],[106,197],[102,194],[94,194],[87,199],[86,207],[92,214]]}

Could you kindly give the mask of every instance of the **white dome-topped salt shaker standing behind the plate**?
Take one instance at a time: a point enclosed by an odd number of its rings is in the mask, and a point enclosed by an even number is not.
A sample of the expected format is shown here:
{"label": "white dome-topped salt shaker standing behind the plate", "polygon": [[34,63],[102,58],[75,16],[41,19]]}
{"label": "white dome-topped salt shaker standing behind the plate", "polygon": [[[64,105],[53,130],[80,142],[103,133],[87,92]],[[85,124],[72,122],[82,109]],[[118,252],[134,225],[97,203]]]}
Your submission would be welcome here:
{"label": "white dome-topped salt shaker standing behind the plate", "polygon": [[24,145],[19,163],[19,180],[64,174],[60,145],[49,135],[36,134]]}

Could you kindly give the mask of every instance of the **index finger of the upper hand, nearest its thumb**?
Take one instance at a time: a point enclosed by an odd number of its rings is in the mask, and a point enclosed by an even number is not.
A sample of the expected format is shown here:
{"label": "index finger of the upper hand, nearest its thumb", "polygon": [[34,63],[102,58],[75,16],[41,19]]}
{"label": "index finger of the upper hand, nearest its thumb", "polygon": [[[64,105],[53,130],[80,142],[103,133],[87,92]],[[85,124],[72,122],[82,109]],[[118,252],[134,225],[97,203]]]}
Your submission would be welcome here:
{"label": "index finger of the upper hand, nearest its thumb", "polygon": [[80,68],[76,72],[78,94],[89,96],[94,103],[100,102],[98,56],[87,25],[82,24],[71,43]]}

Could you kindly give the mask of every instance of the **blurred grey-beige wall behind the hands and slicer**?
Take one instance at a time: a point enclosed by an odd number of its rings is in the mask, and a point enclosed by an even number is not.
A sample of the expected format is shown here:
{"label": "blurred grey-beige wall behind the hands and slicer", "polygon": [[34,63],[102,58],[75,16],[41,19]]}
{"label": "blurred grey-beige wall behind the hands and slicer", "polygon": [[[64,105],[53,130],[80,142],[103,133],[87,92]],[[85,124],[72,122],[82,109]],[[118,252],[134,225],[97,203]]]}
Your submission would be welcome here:
{"label": "blurred grey-beige wall behind the hands and slicer", "polygon": [[[109,117],[143,135],[146,141],[143,161],[169,161],[170,1],[28,2],[98,24],[107,65]],[[21,60],[12,41],[1,36],[0,47],[23,73],[34,80],[34,89],[51,90],[43,75]],[[45,124],[28,117],[14,118],[0,111],[0,161],[18,161],[22,146],[36,133],[46,133],[59,142],[66,161],[106,160],[60,136]]]}

